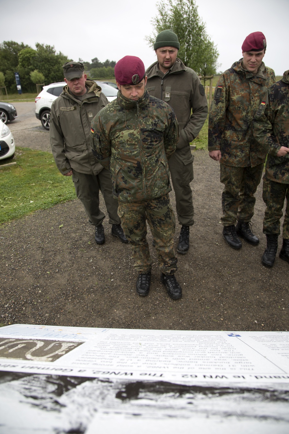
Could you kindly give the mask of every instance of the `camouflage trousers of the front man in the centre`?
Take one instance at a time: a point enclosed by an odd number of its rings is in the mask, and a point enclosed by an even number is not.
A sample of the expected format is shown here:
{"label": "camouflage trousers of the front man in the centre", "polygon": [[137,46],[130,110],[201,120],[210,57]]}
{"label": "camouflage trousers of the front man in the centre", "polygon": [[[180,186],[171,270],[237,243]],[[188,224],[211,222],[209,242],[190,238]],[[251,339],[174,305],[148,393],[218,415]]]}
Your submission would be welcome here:
{"label": "camouflage trousers of the front man in the centre", "polygon": [[120,202],[118,215],[123,231],[130,241],[134,267],[139,273],[148,273],[152,268],[149,244],[146,241],[146,220],[156,244],[159,269],[171,275],[177,270],[174,250],[175,214],[169,203],[169,194],[150,201]]}

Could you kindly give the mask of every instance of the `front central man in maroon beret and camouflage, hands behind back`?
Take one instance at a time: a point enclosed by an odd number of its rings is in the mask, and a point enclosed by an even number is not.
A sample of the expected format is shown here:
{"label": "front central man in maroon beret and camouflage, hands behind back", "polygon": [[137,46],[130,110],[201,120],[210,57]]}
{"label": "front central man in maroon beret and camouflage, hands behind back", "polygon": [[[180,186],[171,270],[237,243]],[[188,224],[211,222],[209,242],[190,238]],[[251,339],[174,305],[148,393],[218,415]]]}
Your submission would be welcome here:
{"label": "front central man in maroon beret and camouflage, hands behind back", "polygon": [[110,170],[118,215],[130,241],[139,272],[136,292],[149,293],[152,260],[146,241],[146,220],[156,245],[161,281],[172,299],[182,296],[175,278],[177,258],[173,236],[175,216],[169,203],[168,158],[179,140],[173,109],[146,91],[143,62],[135,56],[120,59],[115,68],[119,92],[91,124],[91,147]]}

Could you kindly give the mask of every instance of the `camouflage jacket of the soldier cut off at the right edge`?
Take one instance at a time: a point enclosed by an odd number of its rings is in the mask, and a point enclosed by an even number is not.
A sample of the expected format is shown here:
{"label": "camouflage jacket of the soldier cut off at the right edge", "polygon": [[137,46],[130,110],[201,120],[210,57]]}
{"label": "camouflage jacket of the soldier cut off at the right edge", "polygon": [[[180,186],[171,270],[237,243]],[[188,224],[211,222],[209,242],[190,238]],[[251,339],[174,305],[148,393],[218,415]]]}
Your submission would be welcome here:
{"label": "camouflage jacket of the soldier cut off at the right edge", "polygon": [[254,117],[254,136],[268,152],[266,177],[289,184],[289,154],[277,157],[281,146],[289,148],[289,70],[265,95]]}

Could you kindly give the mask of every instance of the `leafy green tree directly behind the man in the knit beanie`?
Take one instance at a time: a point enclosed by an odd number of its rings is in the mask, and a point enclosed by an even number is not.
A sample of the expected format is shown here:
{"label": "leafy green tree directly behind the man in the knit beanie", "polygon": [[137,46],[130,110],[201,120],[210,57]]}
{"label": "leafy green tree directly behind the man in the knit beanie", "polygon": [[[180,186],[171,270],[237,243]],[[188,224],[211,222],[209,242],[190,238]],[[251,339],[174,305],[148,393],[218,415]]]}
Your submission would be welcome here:
{"label": "leafy green tree directly behind the man in the knit beanie", "polygon": [[178,35],[178,57],[185,66],[194,69],[198,75],[215,74],[219,53],[198,15],[195,0],[166,0],[157,3],[156,7],[159,15],[151,21],[155,31],[145,38],[149,45],[153,46],[159,32],[171,29]]}

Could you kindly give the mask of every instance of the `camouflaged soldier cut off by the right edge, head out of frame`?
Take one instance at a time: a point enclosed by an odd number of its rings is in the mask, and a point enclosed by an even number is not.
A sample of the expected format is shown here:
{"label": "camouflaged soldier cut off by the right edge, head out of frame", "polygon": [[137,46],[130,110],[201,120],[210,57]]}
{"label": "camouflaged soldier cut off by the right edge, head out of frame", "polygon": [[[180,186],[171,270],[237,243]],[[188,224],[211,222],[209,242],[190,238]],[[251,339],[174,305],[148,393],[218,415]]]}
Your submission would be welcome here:
{"label": "camouflaged soldier cut off by the right edge, head out of frame", "polygon": [[286,199],[283,222],[283,246],[279,257],[289,263],[289,70],[268,90],[254,117],[254,136],[268,157],[263,177],[263,201],[266,204],[263,233],[267,248],[262,263],[272,267],[275,261],[280,218]]}

